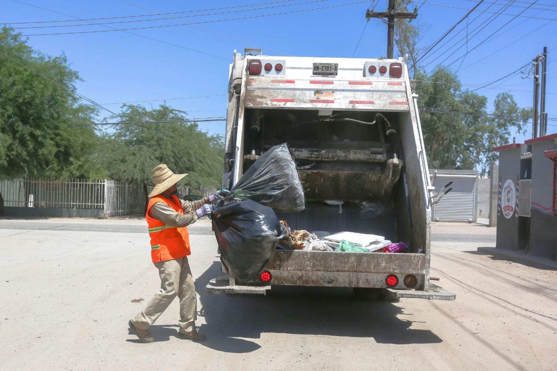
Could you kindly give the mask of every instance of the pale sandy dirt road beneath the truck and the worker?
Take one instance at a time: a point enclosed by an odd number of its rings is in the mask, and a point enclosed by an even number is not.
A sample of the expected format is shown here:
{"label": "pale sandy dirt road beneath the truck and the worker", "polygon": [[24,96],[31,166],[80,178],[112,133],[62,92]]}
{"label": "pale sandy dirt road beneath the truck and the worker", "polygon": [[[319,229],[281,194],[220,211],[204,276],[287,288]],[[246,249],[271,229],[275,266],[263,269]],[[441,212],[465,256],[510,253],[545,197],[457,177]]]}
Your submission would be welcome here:
{"label": "pale sandy dirt road beneath the truck and the worker", "polygon": [[190,266],[208,340],[177,338],[175,301],[143,344],[127,321],[159,285],[144,222],[49,222],[0,221],[2,370],[557,368],[557,272],[478,254],[494,246],[486,227],[434,225],[432,276],[456,301],[386,303],[348,289],[207,294],[220,272],[202,221]]}

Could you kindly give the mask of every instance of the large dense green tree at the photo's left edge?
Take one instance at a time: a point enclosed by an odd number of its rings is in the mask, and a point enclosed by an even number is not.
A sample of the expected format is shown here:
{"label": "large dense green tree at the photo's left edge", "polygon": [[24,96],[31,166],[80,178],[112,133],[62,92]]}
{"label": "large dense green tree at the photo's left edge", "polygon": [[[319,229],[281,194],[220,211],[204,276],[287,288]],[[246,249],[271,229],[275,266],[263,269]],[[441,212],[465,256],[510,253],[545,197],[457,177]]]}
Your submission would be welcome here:
{"label": "large dense green tree at the photo's left edge", "polygon": [[33,50],[0,30],[0,176],[88,177],[96,108],[74,94],[79,75],[65,55]]}

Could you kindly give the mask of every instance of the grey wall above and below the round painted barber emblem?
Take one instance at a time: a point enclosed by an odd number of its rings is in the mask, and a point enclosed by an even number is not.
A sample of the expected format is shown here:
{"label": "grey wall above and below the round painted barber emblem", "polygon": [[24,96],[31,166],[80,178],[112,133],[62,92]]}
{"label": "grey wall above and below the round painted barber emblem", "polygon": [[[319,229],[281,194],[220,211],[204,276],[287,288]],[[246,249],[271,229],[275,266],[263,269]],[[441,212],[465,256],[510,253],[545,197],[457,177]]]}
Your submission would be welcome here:
{"label": "grey wall above and below the round painted barber emblem", "polygon": [[[517,145],[499,151],[499,180],[501,187],[507,179],[516,183],[520,174],[520,155],[523,146]],[[497,193],[499,194],[499,187]],[[502,195],[503,198],[505,195]],[[497,210],[497,243],[496,248],[506,250],[519,249],[519,217],[515,212],[507,218],[501,210]]]}

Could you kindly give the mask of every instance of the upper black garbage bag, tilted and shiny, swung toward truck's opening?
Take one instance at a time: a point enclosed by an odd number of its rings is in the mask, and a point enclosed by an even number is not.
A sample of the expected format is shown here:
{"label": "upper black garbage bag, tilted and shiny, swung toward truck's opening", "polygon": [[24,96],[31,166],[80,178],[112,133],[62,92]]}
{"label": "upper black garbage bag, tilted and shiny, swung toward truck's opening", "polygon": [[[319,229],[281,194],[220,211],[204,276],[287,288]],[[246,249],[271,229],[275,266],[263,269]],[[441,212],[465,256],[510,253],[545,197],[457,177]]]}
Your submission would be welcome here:
{"label": "upper black garbage bag, tilted and shiny, swung toward truck's opening", "polygon": [[274,146],[248,169],[226,201],[250,199],[276,212],[305,209],[304,187],[286,143]]}

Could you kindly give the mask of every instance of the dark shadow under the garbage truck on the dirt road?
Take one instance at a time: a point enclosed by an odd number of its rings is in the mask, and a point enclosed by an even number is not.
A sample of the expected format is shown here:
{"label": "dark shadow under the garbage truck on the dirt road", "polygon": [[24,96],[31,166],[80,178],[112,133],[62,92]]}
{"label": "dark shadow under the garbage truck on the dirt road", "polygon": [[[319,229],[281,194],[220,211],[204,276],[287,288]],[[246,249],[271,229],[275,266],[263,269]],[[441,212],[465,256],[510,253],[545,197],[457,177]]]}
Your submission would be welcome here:
{"label": "dark shadow under the garbage truck on the dirt road", "polygon": [[261,338],[262,333],[373,338],[383,344],[443,341],[430,330],[412,329],[413,321],[398,318],[403,314],[399,306],[357,298],[352,289],[277,286],[266,296],[208,294],[205,286],[219,275],[221,263],[216,261],[196,280],[196,290],[201,297],[199,316],[207,322],[201,326],[207,335],[203,344],[221,352],[253,352],[260,345],[245,339]]}

